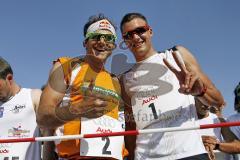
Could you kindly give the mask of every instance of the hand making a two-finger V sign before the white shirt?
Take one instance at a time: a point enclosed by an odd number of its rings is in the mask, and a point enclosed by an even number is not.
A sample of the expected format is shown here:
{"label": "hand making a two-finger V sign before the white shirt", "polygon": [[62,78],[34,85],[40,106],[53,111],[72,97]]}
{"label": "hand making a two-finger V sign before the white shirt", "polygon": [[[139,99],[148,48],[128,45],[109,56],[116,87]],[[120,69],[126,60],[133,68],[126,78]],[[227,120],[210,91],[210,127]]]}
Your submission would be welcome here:
{"label": "hand making a two-finger V sign before the white shirt", "polygon": [[182,94],[191,94],[193,96],[201,95],[204,90],[204,84],[201,81],[200,77],[191,69],[191,66],[185,66],[184,62],[181,60],[178,55],[179,53],[173,52],[173,58],[180,68],[180,71],[177,70],[172,64],[170,64],[167,59],[163,59],[165,65],[170,69],[177,77],[179,81],[179,92]]}

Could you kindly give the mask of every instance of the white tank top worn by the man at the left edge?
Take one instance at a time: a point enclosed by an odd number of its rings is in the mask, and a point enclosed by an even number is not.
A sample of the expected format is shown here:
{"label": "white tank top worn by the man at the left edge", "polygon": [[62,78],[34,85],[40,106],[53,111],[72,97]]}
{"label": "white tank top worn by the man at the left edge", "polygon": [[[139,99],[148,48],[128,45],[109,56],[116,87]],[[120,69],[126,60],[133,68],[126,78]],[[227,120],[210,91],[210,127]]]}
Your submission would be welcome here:
{"label": "white tank top worn by the man at the left edge", "polygon": [[[0,138],[28,138],[39,135],[31,89],[22,88],[12,99],[0,103]],[[40,160],[40,143],[2,143],[0,160]]]}

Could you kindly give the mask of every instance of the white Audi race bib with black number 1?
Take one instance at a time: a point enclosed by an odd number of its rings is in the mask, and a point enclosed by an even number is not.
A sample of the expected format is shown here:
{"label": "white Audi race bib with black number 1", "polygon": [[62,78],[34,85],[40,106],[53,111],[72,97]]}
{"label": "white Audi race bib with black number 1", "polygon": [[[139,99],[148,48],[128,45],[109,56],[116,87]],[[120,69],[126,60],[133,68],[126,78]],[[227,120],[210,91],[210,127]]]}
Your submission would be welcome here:
{"label": "white Audi race bib with black number 1", "polygon": [[137,129],[146,128],[155,122],[159,122],[161,127],[169,127],[181,116],[189,117],[189,115],[183,115],[189,114],[188,109],[184,109],[189,104],[188,98],[177,92],[161,96],[149,95],[145,98],[135,97],[135,102],[132,110]]}

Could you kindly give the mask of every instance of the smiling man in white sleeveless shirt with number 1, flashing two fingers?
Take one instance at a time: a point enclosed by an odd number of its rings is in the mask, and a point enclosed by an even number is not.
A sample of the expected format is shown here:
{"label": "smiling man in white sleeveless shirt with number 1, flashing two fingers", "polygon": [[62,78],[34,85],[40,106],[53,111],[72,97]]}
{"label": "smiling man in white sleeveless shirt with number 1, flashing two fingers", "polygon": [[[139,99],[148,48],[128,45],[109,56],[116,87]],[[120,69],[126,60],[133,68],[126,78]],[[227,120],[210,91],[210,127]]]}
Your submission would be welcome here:
{"label": "smiling man in white sleeveless shirt with number 1, flashing two fingers", "polygon": [[[194,125],[197,117],[193,96],[206,105],[223,104],[221,93],[189,50],[176,46],[158,53],[154,49],[153,29],[142,14],[126,14],[121,32],[137,61],[121,76],[126,130]],[[198,131],[140,134],[125,140],[129,159],[134,154],[135,159],[146,160],[208,159]]]}

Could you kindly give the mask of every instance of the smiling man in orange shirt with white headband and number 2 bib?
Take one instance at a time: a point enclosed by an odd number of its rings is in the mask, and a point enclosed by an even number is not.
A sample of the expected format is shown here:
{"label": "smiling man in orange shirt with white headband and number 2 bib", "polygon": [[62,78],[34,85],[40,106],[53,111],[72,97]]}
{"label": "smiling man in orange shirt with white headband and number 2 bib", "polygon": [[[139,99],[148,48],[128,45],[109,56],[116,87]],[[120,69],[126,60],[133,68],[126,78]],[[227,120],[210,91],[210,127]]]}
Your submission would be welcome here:
{"label": "smiling man in orange shirt with white headband and number 2 bib", "polygon": [[[56,128],[57,135],[122,131],[118,121],[120,85],[104,69],[115,49],[115,27],[102,14],[84,26],[86,56],[61,57],[54,62],[41,96],[37,122]],[[65,159],[122,159],[123,137],[56,142],[58,156]]]}

